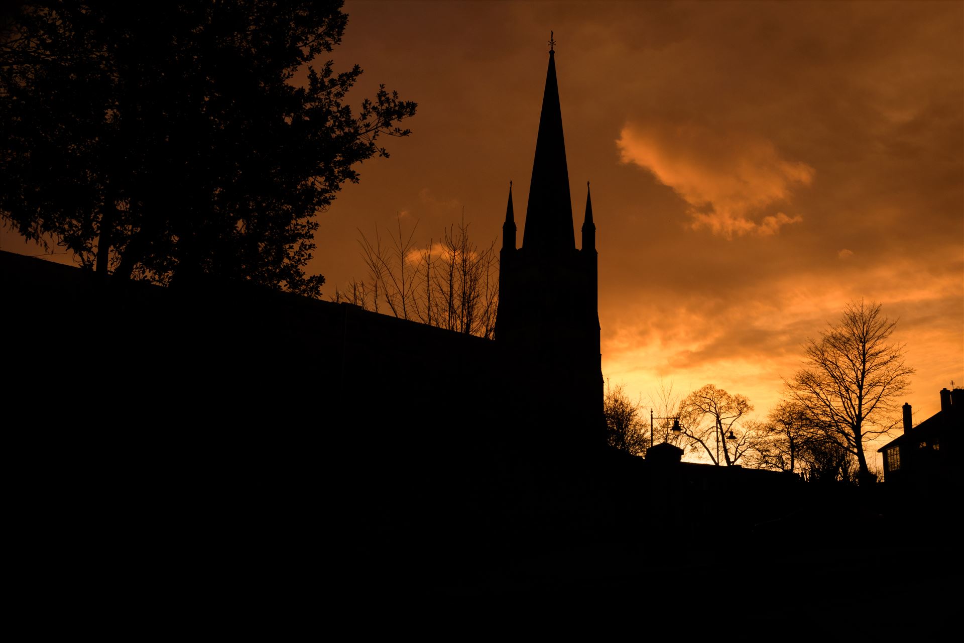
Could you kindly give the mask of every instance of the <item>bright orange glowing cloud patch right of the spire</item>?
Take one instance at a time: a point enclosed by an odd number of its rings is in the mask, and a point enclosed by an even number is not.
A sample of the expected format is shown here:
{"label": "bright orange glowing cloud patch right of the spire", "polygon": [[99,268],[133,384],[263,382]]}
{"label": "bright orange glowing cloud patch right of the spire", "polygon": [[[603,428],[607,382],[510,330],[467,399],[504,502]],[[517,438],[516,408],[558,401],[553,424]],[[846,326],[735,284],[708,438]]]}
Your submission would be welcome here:
{"label": "bright orange glowing cloud patch right of the spire", "polygon": [[727,134],[692,123],[629,123],[616,141],[620,160],[656,174],[689,203],[693,229],[713,234],[777,234],[799,223],[799,215],[763,210],[789,202],[791,190],[810,185],[814,169],[783,158],[772,142],[749,134]]}

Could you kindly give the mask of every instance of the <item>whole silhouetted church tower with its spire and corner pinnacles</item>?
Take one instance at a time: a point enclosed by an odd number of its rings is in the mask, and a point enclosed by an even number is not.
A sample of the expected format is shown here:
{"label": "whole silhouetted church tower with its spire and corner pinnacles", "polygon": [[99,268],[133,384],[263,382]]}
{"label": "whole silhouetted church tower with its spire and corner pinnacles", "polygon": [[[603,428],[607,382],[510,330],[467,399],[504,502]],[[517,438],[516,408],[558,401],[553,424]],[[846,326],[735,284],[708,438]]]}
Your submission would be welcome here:
{"label": "whole silhouetted church tower with its spire and corner pinnacles", "polygon": [[516,248],[509,186],[495,342],[503,355],[507,401],[523,426],[554,436],[544,435],[547,440],[604,444],[596,226],[587,182],[577,250],[554,44],[549,40],[522,248]]}

